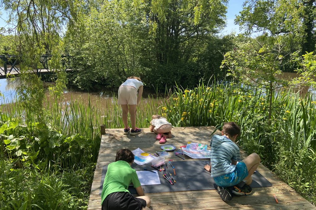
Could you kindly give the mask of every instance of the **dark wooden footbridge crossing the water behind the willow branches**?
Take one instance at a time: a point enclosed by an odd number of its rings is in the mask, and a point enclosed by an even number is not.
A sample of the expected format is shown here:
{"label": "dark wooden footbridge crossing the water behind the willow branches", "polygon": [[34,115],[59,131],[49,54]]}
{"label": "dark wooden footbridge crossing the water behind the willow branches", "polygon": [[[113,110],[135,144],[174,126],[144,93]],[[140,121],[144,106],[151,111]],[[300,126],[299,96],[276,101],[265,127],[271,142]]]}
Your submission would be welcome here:
{"label": "dark wooden footbridge crossing the water behind the willow branches", "polygon": [[[38,75],[45,74],[53,74],[54,69],[50,69],[48,67],[48,61],[51,59],[52,55],[42,55],[40,58],[42,68],[35,68],[30,71],[30,73],[36,73]],[[70,58],[73,56],[62,55],[62,63],[65,71],[71,71],[72,69],[69,67]],[[21,71],[19,66],[19,56],[18,55],[0,55],[0,79],[8,78],[8,77],[19,77]]]}

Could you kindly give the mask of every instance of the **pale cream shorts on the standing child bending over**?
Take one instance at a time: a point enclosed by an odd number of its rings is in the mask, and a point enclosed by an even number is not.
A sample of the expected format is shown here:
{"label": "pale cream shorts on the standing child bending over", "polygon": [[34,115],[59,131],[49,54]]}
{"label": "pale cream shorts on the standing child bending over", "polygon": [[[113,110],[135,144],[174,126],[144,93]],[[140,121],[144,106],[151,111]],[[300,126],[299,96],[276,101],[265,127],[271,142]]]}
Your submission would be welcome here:
{"label": "pale cream shorts on the standing child bending over", "polygon": [[137,105],[137,90],[133,86],[120,86],[119,87],[119,105],[130,104]]}

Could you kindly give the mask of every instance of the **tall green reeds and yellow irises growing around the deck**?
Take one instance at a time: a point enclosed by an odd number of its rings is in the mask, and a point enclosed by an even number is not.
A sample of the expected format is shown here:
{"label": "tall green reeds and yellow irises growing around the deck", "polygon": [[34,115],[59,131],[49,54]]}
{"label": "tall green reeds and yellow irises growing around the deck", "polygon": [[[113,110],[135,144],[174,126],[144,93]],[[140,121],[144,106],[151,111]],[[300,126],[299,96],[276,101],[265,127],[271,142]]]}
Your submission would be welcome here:
{"label": "tall green reeds and yellow irises growing around the deck", "polygon": [[[71,168],[78,164],[76,170],[88,167],[98,156],[100,125],[123,128],[121,107],[115,97],[96,105],[92,105],[90,99],[88,103],[53,99],[44,104],[46,121],[53,130],[65,136],[79,135],[73,137],[78,142],[74,144],[78,148],[76,153],[69,155],[66,145],[48,157],[54,158],[55,166]],[[310,94],[302,97],[291,90],[283,90],[273,94],[270,119],[268,107],[266,90],[216,82],[200,83],[194,89],[175,86],[171,95],[151,96],[137,107],[137,127],[148,127],[153,114],[165,116],[176,127],[216,126],[220,129],[223,122],[234,121],[242,129],[238,144],[244,150],[257,152],[264,165],[309,201],[316,202],[315,99]],[[3,112],[9,118],[23,119],[25,116],[25,110],[14,104],[3,106]],[[35,122],[36,116],[33,117]],[[1,120],[5,121],[4,118],[2,115]],[[85,148],[80,148],[82,142],[86,142]]]}

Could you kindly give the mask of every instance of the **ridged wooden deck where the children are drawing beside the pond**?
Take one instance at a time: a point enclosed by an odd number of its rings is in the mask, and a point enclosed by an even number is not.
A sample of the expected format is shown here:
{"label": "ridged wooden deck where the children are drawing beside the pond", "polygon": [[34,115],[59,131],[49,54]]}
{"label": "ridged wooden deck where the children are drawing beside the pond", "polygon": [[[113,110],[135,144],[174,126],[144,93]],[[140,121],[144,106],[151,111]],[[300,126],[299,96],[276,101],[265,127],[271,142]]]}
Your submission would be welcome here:
{"label": "ridged wooden deck where the children are drawing beside the pond", "polygon": [[[88,209],[101,209],[101,197],[99,188],[101,181],[102,167],[114,162],[116,150],[129,148],[130,150],[141,148],[143,151],[153,154],[154,151],[160,150],[160,144],[155,140],[155,134],[151,133],[148,128],[142,129],[142,133],[136,136],[123,135],[123,129],[106,129],[106,134],[102,135],[99,157],[94,172]],[[186,145],[188,141],[203,143],[209,145],[211,133],[214,127],[186,127],[173,128],[174,137],[167,139],[167,143],[175,145]],[[208,147],[209,148],[209,147]],[[242,158],[246,156],[240,151]],[[185,160],[180,159],[173,153],[169,156],[174,161],[191,161],[185,156]],[[258,172],[273,184],[272,187],[253,188],[252,195],[234,197],[231,201],[224,202],[217,194],[216,190],[198,190],[198,191],[180,191],[180,192],[162,192],[147,193],[151,199],[151,209],[277,209],[277,210],[294,210],[294,209],[315,209],[310,202],[296,193],[283,181],[280,181],[272,172],[261,164]],[[278,200],[276,203],[274,196]]]}

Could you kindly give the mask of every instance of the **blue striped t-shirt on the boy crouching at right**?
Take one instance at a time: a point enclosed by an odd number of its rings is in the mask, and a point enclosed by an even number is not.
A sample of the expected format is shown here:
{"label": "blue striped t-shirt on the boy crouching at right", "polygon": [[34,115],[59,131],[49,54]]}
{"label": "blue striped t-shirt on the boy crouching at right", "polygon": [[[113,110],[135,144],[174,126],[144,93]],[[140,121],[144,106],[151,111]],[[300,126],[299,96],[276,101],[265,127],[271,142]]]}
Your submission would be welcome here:
{"label": "blue striped t-shirt on the boy crouching at right", "polygon": [[214,135],[211,143],[211,177],[221,176],[235,170],[232,160],[239,161],[238,146],[226,136]]}

